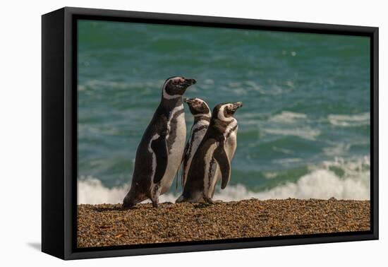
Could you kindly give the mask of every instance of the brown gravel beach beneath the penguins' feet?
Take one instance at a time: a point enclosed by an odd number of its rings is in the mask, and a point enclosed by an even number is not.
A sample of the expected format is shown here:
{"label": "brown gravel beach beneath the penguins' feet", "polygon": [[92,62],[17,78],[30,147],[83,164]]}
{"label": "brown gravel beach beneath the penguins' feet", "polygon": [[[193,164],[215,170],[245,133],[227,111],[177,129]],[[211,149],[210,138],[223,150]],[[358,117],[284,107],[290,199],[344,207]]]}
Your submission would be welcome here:
{"label": "brown gravel beach beneath the penguins' feet", "polygon": [[366,230],[370,202],[334,198],[78,206],[78,247]]}

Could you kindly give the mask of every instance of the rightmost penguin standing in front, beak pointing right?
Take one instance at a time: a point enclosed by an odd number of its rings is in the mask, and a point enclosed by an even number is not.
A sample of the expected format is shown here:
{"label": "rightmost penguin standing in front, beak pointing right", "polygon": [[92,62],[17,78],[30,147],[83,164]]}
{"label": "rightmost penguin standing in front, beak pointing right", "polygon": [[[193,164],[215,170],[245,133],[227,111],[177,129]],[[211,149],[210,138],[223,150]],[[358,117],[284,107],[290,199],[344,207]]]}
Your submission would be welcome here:
{"label": "rightmost penguin standing in front, beak pointing right", "polygon": [[176,202],[213,203],[214,188],[219,179],[221,189],[229,182],[231,160],[237,147],[237,120],[234,113],[242,102],[224,103],[214,107],[212,118],[191,160],[183,194]]}

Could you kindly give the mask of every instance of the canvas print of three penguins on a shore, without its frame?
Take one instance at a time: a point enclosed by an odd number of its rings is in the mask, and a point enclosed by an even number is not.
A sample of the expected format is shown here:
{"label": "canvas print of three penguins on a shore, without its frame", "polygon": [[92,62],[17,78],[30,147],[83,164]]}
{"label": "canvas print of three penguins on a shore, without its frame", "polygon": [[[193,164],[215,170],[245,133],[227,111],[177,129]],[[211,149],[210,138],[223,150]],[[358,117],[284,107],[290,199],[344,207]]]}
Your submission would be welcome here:
{"label": "canvas print of three penguins on a shore, without its frame", "polygon": [[370,39],[78,20],[77,247],[370,230]]}

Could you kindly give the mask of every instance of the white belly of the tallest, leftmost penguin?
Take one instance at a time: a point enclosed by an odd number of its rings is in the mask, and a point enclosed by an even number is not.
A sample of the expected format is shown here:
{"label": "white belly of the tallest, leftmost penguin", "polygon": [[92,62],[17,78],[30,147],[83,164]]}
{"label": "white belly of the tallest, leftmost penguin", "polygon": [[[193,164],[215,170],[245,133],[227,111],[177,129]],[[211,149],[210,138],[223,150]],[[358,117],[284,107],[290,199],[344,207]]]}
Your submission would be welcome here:
{"label": "white belly of the tallest, leftmost penguin", "polygon": [[164,194],[171,187],[172,182],[179,166],[181,165],[183,150],[186,141],[186,121],[183,111],[183,105],[176,107],[171,112],[169,121],[167,122],[169,130],[166,136],[167,150],[169,158],[167,162],[166,172],[161,181],[161,194]]}

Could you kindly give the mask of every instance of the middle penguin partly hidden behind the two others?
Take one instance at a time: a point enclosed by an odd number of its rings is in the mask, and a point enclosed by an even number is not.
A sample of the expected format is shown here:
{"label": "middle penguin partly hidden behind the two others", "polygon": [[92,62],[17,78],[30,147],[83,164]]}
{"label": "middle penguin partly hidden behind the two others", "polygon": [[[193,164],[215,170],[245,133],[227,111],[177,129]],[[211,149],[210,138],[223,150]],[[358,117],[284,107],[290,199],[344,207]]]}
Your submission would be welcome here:
{"label": "middle penguin partly hidden behind the two others", "polygon": [[193,159],[193,155],[195,154],[195,151],[197,151],[203,136],[205,136],[207,126],[209,126],[210,118],[212,117],[209,106],[200,98],[184,98],[183,102],[188,104],[190,112],[193,114],[194,122],[193,126],[191,126],[190,136],[183,153],[182,186],[186,183],[191,160]]}

